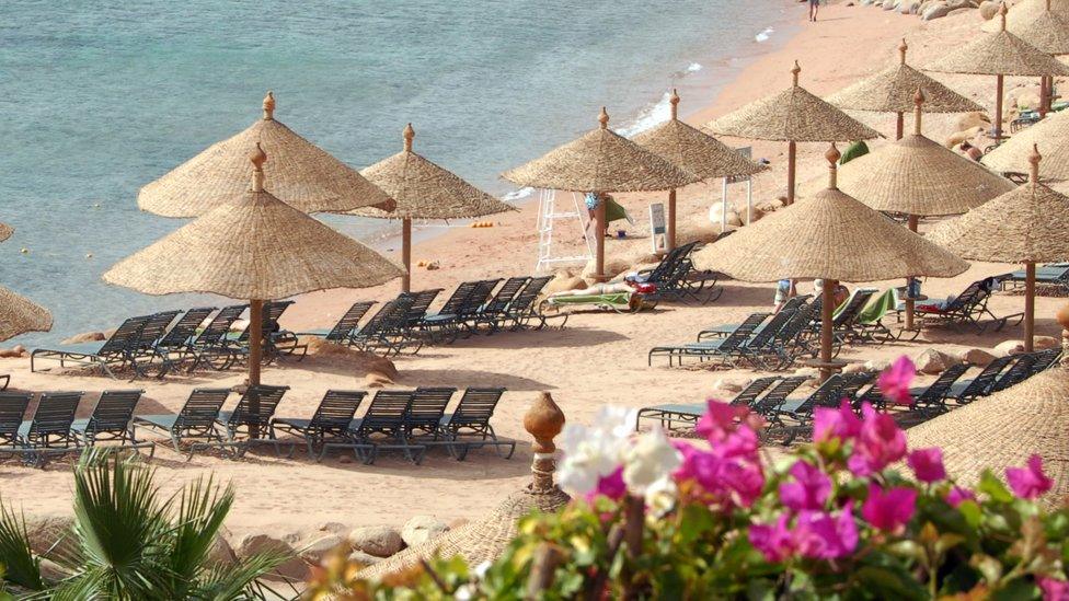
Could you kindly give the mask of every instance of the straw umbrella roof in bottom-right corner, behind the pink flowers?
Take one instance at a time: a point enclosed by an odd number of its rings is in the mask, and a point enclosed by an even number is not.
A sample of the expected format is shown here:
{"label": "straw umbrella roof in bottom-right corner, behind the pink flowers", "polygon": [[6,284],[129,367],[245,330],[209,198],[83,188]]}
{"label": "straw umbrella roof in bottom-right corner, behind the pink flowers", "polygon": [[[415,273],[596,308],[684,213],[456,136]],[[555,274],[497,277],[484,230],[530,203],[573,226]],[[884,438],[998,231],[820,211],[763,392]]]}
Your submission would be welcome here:
{"label": "straw umbrella roof in bottom-right corner, behind the pink flowers", "polygon": [[984,470],[1002,476],[1032,453],[1054,488],[1039,498],[1048,508],[1069,495],[1069,369],[1055,366],[1024,382],[978,398],[906,431],[909,447],[941,447],[946,472],[973,487]]}

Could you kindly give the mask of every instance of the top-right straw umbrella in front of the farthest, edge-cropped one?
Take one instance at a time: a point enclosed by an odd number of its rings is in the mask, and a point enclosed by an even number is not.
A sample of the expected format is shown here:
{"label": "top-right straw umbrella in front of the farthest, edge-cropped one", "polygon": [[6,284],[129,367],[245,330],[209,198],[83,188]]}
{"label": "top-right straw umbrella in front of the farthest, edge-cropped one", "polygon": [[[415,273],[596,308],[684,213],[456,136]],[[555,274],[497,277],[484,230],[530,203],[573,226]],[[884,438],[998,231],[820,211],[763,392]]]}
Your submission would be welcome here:
{"label": "top-right straw umbrella in front of the farthest, edge-cropped one", "polygon": [[1005,4],[999,9],[1001,28],[985,34],[924,68],[942,73],[995,76],[995,139],[1002,139],[1002,89],[1005,76],[1069,76],[1053,56],[1021,39],[1005,28]]}

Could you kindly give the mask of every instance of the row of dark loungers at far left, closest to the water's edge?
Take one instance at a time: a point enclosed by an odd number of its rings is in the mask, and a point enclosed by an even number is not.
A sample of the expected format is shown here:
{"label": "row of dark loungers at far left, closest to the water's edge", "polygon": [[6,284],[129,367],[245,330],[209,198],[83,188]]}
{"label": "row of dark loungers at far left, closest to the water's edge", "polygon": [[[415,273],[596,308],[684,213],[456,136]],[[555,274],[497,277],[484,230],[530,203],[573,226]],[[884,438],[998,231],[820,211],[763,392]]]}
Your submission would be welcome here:
{"label": "row of dark loungers at far left, closest to the water's edge", "polygon": [[[307,347],[297,336],[284,331],[278,320],[294,301],[264,303],[263,323],[264,361],[271,362],[279,355],[299,354]],[[250,327],[231,331],[234,322],[249,309],[246,304],[164,311],[140,315],[124,321],[101,343],[59,345],[57,348],[36,348],[30,355],[31,371],[39,368],[43,359],[58,361],[59,367],[79,366],[99,368],[115,378],[115,372],[129,369],[136,377],[163,378],[180,365],[188,371],[198,367],[228,369],[244,362],[249,355]]]}

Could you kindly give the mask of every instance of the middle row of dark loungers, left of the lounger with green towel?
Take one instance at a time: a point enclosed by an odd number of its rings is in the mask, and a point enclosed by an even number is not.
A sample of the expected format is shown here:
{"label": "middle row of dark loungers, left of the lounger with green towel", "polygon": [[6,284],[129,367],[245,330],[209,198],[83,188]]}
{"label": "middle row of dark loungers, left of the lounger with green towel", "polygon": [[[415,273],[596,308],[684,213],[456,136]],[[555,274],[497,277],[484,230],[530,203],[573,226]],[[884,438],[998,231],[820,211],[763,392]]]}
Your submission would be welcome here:
{"label": "middle row of dark loungers, left of the lounger with green towel", "polygon": [[540,330],[558,316],[561,317],[559,325],[563,327],[567,315],[547,315],[537,302],[551,279],[549,276],[521,276],[465,281],[437,311],[430,311],[430,305],[442,292],[440,288],[405,292],[386,302],[366,321],[364,317],[375,302],[360,301],[354,303],[333,327],[300,334],[390,356],[406,350],[415,354],[426,344],[451,343],[461,335],[480,332]]}

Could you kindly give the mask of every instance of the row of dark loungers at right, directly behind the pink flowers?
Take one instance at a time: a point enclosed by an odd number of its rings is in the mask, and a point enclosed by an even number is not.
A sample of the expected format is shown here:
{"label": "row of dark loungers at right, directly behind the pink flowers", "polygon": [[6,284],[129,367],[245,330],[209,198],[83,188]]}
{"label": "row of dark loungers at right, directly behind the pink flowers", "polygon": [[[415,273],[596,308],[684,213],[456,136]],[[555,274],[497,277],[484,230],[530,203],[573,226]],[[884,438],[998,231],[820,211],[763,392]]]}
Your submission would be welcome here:
{"label": "row of dark loungers at right, directly behind the pink flowers", "polygon": [[[981,396],[1005,390],[1027,380],[1057,362],[1060,349],[1000,357],[980,369],[973,378],[962,379],[970,366],[962,363],[943,371],[931,384],[910,390],[912,412],[926,416],[950,411],[951,401],[963,405]],[[855,411],[864,402],[886,409],[885,401],[874,372],[836,374],[805,397],[792,398],[789,395],[797,390],[806,377],[758,378],[750,382],[735,398],[733,405],[744,405],[765,417],[767,434],[779,432],[790,442],[800,434],[812,432],[813,412],[816,407],[838,407],[843,398],[850,401]],[[705,405],[663,404],[639,411],[636,428],[643,420],[659,423],[666,430],[692,429],[705,413]]]}

